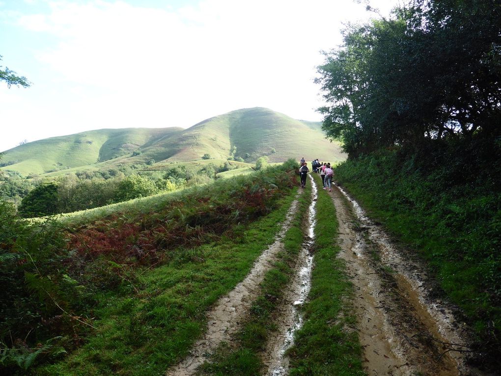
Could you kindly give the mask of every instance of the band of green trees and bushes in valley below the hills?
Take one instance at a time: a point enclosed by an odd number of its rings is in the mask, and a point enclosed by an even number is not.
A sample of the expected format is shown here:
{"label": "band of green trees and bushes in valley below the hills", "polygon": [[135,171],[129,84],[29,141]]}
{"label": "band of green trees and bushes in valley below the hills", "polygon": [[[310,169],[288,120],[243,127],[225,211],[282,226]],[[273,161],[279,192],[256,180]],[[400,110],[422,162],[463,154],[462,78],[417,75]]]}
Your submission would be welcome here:
{"label": "band of green trees and bushes in valley below the hills", "polygon": [[18,202],[22,217],[33,218],[59,213],[70,213],[97,208],[113,203],[160,192],[170,192],[186,186],[205,184],[215,180],[218,172],[232,166],[209,163],[201,169],[176,165],[161,176],[139,175],[137,171],[116,169],[109,171],[80,171],[55,180],[29,182],[19,176],[0,176],[0,197]]}

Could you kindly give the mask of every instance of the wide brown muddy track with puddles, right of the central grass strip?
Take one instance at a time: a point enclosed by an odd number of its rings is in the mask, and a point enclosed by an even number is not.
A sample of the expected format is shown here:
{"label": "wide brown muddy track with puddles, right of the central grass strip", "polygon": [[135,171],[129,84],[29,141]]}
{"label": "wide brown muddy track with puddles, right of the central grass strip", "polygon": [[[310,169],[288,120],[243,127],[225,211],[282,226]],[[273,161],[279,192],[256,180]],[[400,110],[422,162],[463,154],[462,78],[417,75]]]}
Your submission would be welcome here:
{"label": "wide brown muddy track with puddles, right of the central grass strip", "polygon": [[369,375],[470,375],[471,343],[452,307],[435,298],[423,265],[398,250],[339,187],[332,197],[340,257],[355,286],[364,369]]}

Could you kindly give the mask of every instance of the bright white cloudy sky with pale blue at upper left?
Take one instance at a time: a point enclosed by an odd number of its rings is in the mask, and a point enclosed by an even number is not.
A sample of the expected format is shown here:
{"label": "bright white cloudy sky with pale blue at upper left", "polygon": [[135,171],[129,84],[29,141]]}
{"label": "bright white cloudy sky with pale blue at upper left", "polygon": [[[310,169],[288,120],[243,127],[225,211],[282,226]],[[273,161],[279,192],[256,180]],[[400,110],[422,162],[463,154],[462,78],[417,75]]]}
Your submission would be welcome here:
{"label": "bright white cloudy sky with pale blue at upper left", "polygon": [[0,151],[101,128],[190,127],[240,108],[320,121],[316,67],[398,0],[0,0]]}

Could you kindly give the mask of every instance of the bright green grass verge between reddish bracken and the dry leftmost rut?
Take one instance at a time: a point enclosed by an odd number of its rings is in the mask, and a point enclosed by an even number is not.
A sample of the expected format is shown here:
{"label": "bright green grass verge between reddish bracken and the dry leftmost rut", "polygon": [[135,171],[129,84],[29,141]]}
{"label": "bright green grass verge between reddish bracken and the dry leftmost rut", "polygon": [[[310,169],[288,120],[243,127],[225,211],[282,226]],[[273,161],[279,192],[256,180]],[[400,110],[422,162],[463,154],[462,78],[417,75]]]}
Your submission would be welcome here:
{"label": "bright green grass verge between reddish bracken and the dry leftmost rut", "polygon": [[248,274],[274,241],[296,192],[292,190],[266,217],[238,226],[233,233],[242,235],[236,242],[223,237],[145,272],[138,294],[103,294],[96,310],[97,332],[67,359],[39,368],[37,374],[164,374],[203,332],[204,312]]}

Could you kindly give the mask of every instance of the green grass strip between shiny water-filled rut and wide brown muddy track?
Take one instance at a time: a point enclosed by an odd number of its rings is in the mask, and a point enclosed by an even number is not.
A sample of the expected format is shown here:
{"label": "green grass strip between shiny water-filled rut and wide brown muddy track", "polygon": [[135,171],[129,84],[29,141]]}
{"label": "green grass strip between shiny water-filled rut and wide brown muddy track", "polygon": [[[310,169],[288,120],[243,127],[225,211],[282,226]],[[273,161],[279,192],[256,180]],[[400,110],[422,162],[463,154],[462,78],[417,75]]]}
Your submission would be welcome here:
{"label": "green grass strip between shiny water-filled rut and wide brown muddy track", "polygon": [[331,197],[321,187],[317,200],[312,286],[304,305],[304,324],[288,351],[290,375],[364,375],[356,319],[349,304],[353,285],[337,257],[338,222]]}

